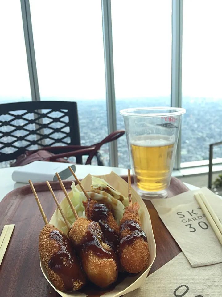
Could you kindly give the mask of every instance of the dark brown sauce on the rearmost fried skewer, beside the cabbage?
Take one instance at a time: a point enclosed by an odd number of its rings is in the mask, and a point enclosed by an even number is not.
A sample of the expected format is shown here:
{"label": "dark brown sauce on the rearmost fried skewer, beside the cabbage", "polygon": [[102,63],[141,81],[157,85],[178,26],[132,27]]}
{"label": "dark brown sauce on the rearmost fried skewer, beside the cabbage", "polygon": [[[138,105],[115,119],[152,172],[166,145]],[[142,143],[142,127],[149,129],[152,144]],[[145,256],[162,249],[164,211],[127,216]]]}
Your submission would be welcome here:
{"label": "dark brown sauce on the rearmost fried skewer, beside the cabbage", "polygon": [[[90,200],[88,201],[87,208],[89,207],[89,203]],[[105,243],[107,243],[114,251],[117,251],[119,244],[119,234],[107,224],[109,211],[109,208],[106,207],[104,203],[95,203],[91,211],[90,219],[99,223]]]}

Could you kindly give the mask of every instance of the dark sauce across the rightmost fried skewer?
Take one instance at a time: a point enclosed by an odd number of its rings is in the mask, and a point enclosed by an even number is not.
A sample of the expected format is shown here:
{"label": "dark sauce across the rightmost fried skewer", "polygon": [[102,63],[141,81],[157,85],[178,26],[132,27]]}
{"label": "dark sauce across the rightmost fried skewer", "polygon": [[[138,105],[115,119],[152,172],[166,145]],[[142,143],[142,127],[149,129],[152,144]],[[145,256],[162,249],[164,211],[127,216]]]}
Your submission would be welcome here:
{"label": "dark sauce across the rightmost fried skewer", "polygon": [[137,221],[127,220],[123,222],[121,225],[120,232],[122,232],[124,229],[129,229],[130,231],[132,231],[132,233],[121,238],[120,240],[121,250],[123,250],[127,244],[132,244],[136,239],[139,239],[139,238],[147,242],[146,234],[141,229]]}

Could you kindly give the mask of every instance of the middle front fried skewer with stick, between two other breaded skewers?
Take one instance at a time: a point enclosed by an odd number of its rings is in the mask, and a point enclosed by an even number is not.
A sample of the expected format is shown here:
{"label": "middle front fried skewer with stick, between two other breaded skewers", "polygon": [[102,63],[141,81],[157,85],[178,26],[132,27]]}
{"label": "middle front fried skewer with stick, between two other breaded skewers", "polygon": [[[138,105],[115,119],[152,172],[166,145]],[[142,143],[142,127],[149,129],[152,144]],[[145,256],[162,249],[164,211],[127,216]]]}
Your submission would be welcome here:
{"label": "middle front fried skewer with stick, between two other breaded skewers", "polygon": [[[57,174],[60,185],[68,200],[72,202],[66,189]],[[73,206],[71,207],[73,210]],[[75,209],[74,209],[75,210]],[[118,275],[117,259],[112,248],[103,241],[101,228],[97,222],[78,218],[73,211],[76,221],[73,223],[69,237],[82,262],[82,267],[91,282],[105,288],[116,281]]]}

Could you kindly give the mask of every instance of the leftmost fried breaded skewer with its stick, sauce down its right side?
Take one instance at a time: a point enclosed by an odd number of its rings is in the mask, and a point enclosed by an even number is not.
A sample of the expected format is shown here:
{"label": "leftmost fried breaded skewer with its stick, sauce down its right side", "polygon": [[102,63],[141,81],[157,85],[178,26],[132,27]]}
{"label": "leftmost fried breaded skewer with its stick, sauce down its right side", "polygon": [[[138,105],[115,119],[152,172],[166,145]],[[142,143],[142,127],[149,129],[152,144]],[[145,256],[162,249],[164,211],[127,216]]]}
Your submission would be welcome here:
{"label": "leftmost fried breaded skewer with its stick, sauce down its right side", "polygon": [[[49,279],[55,288],[60,291],[78,290],[84,286],[86,278],[76,253],[72,249],[67,236],[55,228],[54,225],[48,223],[35,188],[30,180],[29,184],[46,224],[39,235],[39,253]],[[54,193],[53,195],[55,196]],[[57,201],[56,198],[55,200]]]}

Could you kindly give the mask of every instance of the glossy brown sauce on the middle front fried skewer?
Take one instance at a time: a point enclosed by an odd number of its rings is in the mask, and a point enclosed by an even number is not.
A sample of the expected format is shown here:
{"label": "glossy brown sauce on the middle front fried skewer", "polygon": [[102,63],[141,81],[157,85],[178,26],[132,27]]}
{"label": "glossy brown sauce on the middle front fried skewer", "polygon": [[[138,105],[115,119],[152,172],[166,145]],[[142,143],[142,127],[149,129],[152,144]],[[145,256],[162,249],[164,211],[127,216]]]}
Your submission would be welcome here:
{"label": "glossy brown sauce on the middle front fried skewer", "polygon": [[102,242],[103,235],[99,224],[97,222],[90,222],[86,235],[77,249],[81,249],[80,252],[83,254],[92,251],[95,255],[101,258],[113,259],[115,257],[113,251],[108,251],[104,248]]}

